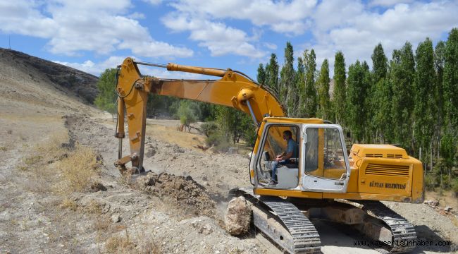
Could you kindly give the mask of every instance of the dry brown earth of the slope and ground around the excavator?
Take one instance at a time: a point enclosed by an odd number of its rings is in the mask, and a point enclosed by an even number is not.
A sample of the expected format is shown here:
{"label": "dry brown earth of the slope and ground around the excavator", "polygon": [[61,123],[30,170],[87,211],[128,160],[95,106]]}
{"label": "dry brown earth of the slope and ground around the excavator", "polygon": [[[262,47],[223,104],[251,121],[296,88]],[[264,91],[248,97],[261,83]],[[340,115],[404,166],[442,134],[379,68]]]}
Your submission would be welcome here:
{"label": "dry brown earth of the slope and ground around the excavator", "polygon": [[[120,176],[111,116],[46,73],[31,77],[39,70],[32,60],[0,58],[0,92],[7,95],[0,101],[0,253],[280,253],[259,234],[234,237],[223,229],[228,191],[250,186],[247,156],[196,149],[202,137],[150,119],[144,167],[151,172]],[[178,135],[179,142],[172,138]],[[386,203],[420,239],[458,243],[450,217],[428,205]],[[323,253],[375,251],[352,246],[359,236],[345,229],[316,225]]]}

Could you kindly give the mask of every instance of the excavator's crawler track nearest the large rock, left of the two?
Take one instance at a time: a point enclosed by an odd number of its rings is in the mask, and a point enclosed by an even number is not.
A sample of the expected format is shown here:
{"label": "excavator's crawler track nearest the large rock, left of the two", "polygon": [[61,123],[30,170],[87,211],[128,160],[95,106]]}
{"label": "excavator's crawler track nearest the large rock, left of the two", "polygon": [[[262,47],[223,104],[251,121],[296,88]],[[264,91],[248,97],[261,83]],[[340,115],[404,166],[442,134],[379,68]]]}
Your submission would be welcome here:
{"label": "excavator's crawler track nearest the large rock, left of the two", "polygon": [[249,189],[239,189],[238,192],[242,192],[245,198],[263,212],[268,208],[270,215],[287,229],[289,235],[268,224],[268,219],[254,212],[254,225],[278,246],[288,253],[320,253],[321,241],[318,231],[295,205],[278,197],[254,195]]}

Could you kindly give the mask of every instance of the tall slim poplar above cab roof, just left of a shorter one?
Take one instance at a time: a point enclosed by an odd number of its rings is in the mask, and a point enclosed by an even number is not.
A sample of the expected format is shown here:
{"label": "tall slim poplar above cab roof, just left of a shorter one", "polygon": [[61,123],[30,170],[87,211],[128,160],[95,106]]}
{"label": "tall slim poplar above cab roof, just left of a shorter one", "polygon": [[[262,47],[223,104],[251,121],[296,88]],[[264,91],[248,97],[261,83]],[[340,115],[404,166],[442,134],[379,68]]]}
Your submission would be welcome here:
{"label": "tall slim poplar above cab roof, just left of a shorter one", "polygon": [[[307,51],[304,52],[307,54]],[[315,85],[315,73],[316,73],[316,56],[314,49],[311,49],[308,56],[304,55],[304,59],[307,59],[307,72],[305,73],[305,116],[315,117],[316,109],[318,107],[318,100],[316,95]]]}

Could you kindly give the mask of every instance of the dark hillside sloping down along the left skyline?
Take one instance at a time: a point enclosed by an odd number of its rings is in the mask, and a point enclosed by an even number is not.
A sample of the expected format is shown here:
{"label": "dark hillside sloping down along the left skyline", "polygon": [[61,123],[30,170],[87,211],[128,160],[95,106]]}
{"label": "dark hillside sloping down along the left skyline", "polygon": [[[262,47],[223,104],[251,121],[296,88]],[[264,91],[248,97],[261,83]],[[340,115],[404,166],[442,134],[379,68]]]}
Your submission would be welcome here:
{"label": "dark hillside sloping down along the left skyline", "polygon": [[30,77],[27,78],[49,80],[58,90],[73,93],[90,104],[99,93],[98,78],[75,68],[1,47],[0,61],[4,66],[16,68],[19,73],[28,73]]}

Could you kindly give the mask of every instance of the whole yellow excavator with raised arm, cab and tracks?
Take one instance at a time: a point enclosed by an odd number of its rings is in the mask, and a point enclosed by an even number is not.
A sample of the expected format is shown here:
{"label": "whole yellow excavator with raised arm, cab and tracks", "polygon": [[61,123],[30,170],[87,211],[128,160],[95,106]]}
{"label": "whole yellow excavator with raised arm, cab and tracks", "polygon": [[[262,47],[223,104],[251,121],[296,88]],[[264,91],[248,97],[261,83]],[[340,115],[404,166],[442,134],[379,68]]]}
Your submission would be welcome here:
{"label": "whole yellow excavator with raised arm, cab and tracks", "polygon": [[[144,77],[138,68],[141,64],[219,78]],[[231,194],[252,203],[254,226],[277,246],[287,253],[319,253],[320,238],[310,219],[327,219],[351,225],[370,238],[373,246],[389,253],[415,248],[414,226],[380,202],[423,202],[423,166],[404,149],[354,144],[347,152],[341,126],[286,117],[268,87],[229,68],[160,65],[127,58],[118,66],[116,92],[119,158],[115,166],[121,173],[143,171],[148,93],[233,107],[252,117],[257,136],[249,162],[252,188],[238,188]],[[125,119],[130,154],[123,157]],[[296,147],[295,155],[274,163],[276,155],[289,149],[287,143]]]}

